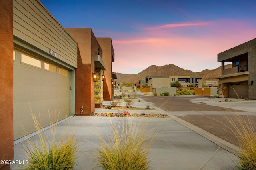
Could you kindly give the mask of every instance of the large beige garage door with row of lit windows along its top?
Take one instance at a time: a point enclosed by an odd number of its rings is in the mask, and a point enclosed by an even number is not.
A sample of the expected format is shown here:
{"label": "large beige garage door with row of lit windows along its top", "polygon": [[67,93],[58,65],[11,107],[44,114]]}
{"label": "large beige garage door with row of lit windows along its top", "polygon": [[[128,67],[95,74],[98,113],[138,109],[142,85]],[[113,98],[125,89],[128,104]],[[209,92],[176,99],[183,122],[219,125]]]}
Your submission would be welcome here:
{"label": "large beige garage door with row of lit windows along its top", "polygon": [[70,116],[70,72],[14,50],[14,140],[35,131],[31,112],[42,127]]}

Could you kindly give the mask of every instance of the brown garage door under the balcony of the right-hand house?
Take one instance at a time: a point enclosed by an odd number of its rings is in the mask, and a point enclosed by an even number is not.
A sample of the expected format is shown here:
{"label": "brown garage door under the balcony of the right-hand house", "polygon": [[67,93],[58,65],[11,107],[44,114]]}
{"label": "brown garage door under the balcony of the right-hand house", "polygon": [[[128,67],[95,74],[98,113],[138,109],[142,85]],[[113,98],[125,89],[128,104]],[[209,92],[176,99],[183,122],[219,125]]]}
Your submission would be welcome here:
{"label": "brown garage door under the balcony of the right-hand house", "polygon": [[248,82],[229,84],[228,98],[248,98],[248,90]]}

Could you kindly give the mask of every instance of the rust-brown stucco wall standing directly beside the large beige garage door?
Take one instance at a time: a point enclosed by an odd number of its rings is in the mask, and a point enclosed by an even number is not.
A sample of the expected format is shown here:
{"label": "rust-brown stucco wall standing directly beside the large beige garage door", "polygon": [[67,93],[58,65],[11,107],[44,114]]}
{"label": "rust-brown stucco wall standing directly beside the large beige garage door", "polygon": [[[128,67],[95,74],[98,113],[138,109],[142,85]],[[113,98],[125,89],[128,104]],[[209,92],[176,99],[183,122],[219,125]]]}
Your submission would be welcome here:
{"label": "rust-brown stucco wall standing directly beside the large beige garage door", "polygon": [[[75,114],[88,116],[94,108],[94,82],[92,73],[95,71],[94,55],[98,55],[100,45],[91,28],[66,28],[78,43],[78,67],[75,70]],[[102,50],[100,52],[102,56]],[[83,106],[83,114],[81,112]]]}

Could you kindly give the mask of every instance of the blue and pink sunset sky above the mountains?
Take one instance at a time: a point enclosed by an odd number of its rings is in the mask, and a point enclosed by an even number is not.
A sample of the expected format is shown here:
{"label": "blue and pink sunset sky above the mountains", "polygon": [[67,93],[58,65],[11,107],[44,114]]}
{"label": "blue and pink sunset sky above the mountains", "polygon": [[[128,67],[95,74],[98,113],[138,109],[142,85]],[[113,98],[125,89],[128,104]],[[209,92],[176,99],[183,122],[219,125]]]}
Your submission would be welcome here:
{"label": "blue and pink sunset sky above the mountains", "polygon": [[217,54],[256,38],[255,0],[41,0],[64,27],[111,37],[112,71],[221,66]]}

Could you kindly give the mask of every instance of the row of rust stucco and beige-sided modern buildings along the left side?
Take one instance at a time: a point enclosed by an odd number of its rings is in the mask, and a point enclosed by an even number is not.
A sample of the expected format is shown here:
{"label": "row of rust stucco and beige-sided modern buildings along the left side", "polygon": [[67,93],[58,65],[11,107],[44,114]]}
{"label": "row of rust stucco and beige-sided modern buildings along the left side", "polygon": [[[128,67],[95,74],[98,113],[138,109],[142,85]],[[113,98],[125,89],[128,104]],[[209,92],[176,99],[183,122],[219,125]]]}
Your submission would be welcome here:
{"label": "row of rust stucco and beige-sided modern buildings along the left side", "polygon": [[112,99],[114,49],[90,28],[63,28],[39,0],[0,0],[0,16],[0,158],[12,160],[22,126],[35,131],[31,112],[46,127]]}

